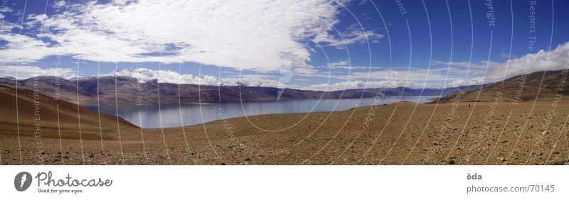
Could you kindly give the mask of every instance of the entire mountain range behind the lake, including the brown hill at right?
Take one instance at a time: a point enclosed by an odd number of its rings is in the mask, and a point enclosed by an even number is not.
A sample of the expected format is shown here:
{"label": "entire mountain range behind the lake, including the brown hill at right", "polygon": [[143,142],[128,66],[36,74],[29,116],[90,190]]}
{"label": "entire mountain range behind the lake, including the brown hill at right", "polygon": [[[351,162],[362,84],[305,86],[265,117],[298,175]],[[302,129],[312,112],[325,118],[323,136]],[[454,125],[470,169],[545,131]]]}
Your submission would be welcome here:
{"label": "entire mountain range behind the lake, including the brown hill at right", "polygon": [[[101,76],[81,79],[60,77],[33,77],[16,80],[0,78],[0,84],[9,87],[37,90],[46,96],[57,97],[81,105],[134,105],[178,103],[226,103],[241,101],[277,101],[290,99],[357,99],[384,96],[441,96],[432,103],[445,103],[460,99],[463,102],[533,101],[555,99],[567,95],[567,70],[542,71],[523,74],[491,84],[445,89],[412,89],[409,87],[346,89],[339,91],[313,91],[280,89],[276,87],[213,86],[198,84],[159,83],[156,79],[143,80],[129,76]],[[464,91],[464,92],[458,92]],[[539,91],[539,94],[538,94]],[[277,99],[279,93],[280,98]]]}

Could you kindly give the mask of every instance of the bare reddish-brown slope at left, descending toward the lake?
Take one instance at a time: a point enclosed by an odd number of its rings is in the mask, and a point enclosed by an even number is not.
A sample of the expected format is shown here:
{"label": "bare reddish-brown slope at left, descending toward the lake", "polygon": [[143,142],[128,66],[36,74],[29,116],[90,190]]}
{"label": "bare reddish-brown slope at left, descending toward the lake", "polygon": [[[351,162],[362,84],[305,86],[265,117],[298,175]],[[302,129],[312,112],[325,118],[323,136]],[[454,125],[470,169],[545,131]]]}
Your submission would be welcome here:
{"label": "bare reddish-brown slope at left, descending toward the lake", "polygon": [[121,128],[137,128],[117,116],[97,113],[32,90],[17,91],[0,85],[0,135],[14,135],[17,130],[23,136],[75,139],[82,133],[84,140],[100,140],[115,138],[112,133],[117,131],[117,124]]}

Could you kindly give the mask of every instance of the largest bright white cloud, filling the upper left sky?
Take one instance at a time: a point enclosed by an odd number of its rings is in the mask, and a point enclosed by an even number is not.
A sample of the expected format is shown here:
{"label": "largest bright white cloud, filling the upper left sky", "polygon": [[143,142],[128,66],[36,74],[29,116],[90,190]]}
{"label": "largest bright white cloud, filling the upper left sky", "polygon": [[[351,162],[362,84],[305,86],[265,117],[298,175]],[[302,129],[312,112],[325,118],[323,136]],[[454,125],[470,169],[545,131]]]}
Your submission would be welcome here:
{"label": "largest bright white cloud, filling the upper left sky", "polygon": [[[35,62],[49,55],[100,62],[199,62],[277,71],[293,60],[306,66],[312,50],[301,41],[339,46],[381,38],[370,30],[334,34],[336,1],[115,0],[64,4],[67,11],[32,15],[26,26],[46,27],[36,38],[1,34],[0,62]],[[19,47],[19,45],[22,45]],[[16,60],[18,59],[18,60]],[[304,67],[306,68],[306,67]],[[306,70],[304,70],[306,71]]]}

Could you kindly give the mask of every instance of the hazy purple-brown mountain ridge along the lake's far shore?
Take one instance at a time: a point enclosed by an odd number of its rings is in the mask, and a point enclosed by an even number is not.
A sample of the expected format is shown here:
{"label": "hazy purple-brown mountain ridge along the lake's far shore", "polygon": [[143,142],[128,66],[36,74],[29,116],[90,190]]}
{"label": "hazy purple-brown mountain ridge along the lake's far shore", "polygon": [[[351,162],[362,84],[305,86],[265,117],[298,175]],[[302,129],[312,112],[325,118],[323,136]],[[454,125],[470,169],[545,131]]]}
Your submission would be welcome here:
{"label": "hazy purple-brown mountain ridge along the lake's far shore", "polygon": [[[0,78],[0,84],[23,89],[38,89],[46,96],[58,97],[83,105],[134,105],[178,103],[225,103],[240,101],[277,101],[282,89],[275,87],[208,86],[197,84],[158,83],[156,79],[141,82],[134,77],[103,76],[68,80],[59,77],[33,77],[16,80]],[[284,89],[280,100],[289,99],[356,99],[381,94],[385,96],[439,96],[456,91],[477,89],[480,86],[451,87],[445,89],[372,88],[344,91],[312,91]]]}

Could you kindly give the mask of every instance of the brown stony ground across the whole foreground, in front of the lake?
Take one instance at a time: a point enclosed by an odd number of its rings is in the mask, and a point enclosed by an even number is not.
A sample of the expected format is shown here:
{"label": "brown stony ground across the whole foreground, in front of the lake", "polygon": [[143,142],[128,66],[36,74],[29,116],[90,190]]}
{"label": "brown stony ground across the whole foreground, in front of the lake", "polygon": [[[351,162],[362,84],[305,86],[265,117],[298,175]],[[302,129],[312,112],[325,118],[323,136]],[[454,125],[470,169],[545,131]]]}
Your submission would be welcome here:
{"label": "brown stony ground across the whole foreground, in front of the lake", "polygon": [[18,137],[15,96],[10,88],[1,91],[2,165],[553,165],[569,160],[568,100],[400,103],[164,130],[140,129],[121,119],[117,128],[117,118],[106,115],[100,129],[97,113],[80,109],[79,140],[76,106],[47,96],[40,98],[45,100],[42,133],[35,137],[33,93],[24,90],[18,94]]}

